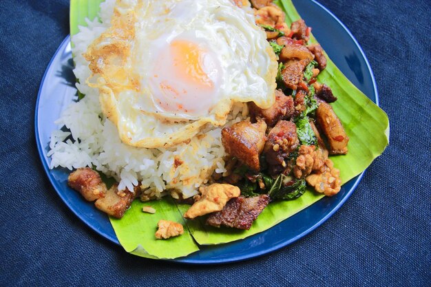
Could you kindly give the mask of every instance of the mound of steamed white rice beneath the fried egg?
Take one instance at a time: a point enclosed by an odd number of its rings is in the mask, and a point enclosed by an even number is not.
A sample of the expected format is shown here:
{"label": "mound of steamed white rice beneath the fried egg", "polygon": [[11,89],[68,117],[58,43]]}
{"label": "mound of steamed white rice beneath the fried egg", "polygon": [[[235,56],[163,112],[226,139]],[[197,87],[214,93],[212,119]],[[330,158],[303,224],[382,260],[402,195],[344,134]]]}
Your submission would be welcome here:
{"label": "mound of steamed white rice beneath the fried egg", "polygon": [[[171,149],[145,149],[123,144],[118,137],[115,125],[101,112],[98,90],[89,87],[85,81],[90,76],[88,62],[82,54],[110,25],[115,0],[101,3],[100,21],[87,21],[87,27],[80,27],[80,32],[72,36],[74,47],[74,74],[80,83],[76,87],[85,97],[77,103],[71,103],[56,120],[59,130],[52,132],[50,168],[95,167],[107,176],[114,177],[120,190],[133,190],[140,182],[145,194],[160,198],[163,191],[175,189],[182,192],[184,198],[198,193],[201,184],[207,182],[215,171],[223,173],[225,156],[220,139],[221,128],[202,131]],[[227,125],[232,125],[246,118],[248,109],[244,104],[233,107]],[[70,132],[61,131],[67,127]],[[72,136],[74,140],[66,140]],[[175,158],[183,163],[174,167]]]}

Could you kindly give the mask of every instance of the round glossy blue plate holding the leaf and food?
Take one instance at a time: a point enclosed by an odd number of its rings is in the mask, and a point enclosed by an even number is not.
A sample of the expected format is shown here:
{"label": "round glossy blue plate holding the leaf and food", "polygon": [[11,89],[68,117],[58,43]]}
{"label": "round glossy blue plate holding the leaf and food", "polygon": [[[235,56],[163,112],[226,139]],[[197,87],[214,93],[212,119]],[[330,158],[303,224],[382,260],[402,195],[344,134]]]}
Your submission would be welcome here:
{"label": "round glossy blue plate holding the leaf and food", "polygon": [[[306,23],[313,27],[313,34],[330,59],[353,84],[378,105],[377,87],[370,65],[346,26],[313,0],[293,0],[293,3]],[[50,158],[46,155],[49,150],[50,134],[56,129],[54,121],[74,100],[75,94],[70,36],[67,36],[48,65],[39,89],[35,116],[37,147],[48,178],[65,204],[94,231],[107,240],[119,244],[108,217],[98,211],[94,204],[86,202],[76,191],[67,187],[67,176],[70,171],[49,169]],[[197,253],[174,261],[191,264],[236,262],[264,255],[291,244],[333,215],[353,193],[362,176],[364,173],[344,184],[336,196],[319,200],[268,231],[238,242],[201,246],[201,250]]]}

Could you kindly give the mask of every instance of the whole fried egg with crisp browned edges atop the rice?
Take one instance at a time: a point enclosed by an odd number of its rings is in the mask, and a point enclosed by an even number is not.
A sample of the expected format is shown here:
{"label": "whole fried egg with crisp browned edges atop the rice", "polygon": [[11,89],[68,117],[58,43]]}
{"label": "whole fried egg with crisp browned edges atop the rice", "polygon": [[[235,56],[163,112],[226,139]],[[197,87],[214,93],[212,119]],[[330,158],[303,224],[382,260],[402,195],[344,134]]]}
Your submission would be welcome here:
{"label": "whole fried egg with crisp browned edges atop the rice", "polygon": [[171,147],[224,125],[234,103],[273,105],[276,56],[253,10],[238,3],[116,1],[112,27],[84,56],[87,84],[123,142]]}

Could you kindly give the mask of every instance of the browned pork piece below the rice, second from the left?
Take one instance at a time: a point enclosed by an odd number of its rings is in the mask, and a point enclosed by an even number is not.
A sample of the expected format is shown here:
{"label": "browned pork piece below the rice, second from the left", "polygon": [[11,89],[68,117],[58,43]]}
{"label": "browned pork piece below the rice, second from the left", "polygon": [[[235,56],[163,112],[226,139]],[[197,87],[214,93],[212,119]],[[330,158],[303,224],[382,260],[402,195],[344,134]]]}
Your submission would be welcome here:
{"label": "browned pork piece below the rice, second from the left", "polygon": [[114,184],[108,189],[103,198],[99,198],[94,202],[94,205],[108,215],[121,218],[139,194],[139,187],[135,187],[134,192],[129,190],[118,191],[118,184]]}

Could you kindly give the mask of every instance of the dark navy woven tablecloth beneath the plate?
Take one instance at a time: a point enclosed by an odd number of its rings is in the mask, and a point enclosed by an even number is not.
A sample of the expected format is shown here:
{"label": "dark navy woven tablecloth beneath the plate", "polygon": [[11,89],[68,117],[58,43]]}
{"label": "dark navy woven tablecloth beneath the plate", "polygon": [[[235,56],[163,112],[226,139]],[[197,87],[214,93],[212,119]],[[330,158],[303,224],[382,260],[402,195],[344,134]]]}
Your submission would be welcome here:
{"label": "dark navy woven tablecloth beneath the plate", "polygon": [[325,224],[224,266],[128,255],[50,185],[36,149],[39,84],[69,31],[69,1],[0,2],[0,286],[430,286],[430,1],[321,0],[364,48],[390,146]]}

